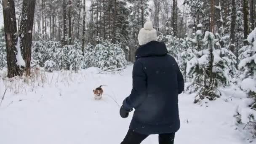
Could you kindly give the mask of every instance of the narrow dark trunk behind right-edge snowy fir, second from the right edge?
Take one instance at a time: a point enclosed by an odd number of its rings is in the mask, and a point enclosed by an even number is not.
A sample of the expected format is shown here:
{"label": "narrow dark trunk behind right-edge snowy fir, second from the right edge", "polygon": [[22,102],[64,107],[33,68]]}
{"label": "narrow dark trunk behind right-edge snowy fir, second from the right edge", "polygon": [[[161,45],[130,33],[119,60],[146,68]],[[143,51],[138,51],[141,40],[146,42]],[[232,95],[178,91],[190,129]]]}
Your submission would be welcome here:
{"label": "narrow dark trunk behind right-edge snowy fir, second from the right edge", "polygon": [[244,20],[244,44],[247,45],[247,37],[249,35],[250,21],[249,21],[249,11],[248,11],[248,0],[243,0],[243,20]]}

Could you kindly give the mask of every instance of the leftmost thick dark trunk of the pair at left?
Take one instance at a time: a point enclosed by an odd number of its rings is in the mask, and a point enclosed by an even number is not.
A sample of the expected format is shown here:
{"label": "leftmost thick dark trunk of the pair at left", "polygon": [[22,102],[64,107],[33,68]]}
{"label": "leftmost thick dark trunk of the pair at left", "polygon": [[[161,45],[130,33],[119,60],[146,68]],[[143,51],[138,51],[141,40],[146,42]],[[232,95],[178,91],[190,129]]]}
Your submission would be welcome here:
{"label": "leftmost thick dark trunk of the pair at left", "polygon": [[3,0],[3,18],[7,53],[8,77],[19,75],[16,62],[17,26],[14,0]]}

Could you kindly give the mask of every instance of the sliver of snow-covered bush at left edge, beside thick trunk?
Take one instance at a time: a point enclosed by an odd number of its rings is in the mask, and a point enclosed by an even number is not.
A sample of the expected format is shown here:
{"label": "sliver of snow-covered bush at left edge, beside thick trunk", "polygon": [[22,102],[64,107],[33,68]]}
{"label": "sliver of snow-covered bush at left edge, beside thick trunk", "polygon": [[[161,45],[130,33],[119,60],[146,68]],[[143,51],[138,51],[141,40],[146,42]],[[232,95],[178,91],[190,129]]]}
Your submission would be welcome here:
{"label": "sliver of snow-covered bush at left edge, beside thick trunk", "polygon": [[6,48],[5,48],[5,35],[3,27],[0,29],[0,69],[7,67],[6,60]]}

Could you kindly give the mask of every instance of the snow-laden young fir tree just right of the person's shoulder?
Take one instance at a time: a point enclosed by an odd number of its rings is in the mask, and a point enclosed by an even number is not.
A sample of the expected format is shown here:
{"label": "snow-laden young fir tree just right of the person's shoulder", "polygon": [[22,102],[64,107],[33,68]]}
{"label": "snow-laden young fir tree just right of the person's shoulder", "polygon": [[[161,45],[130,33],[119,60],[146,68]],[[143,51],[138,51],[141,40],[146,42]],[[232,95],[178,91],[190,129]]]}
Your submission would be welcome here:
{"label": "snow-laden young fir tree just right of the person's shoulder", "polygon": [[217,88],[229,85],[236,72],[235,55],[226,47],[221,48],[219,40],[211,32],[205,32],[203,43],[207,49],[194,49],[194,57],[187,63],[187,75],[191,82],[187,90],[198,93],[195,103],[221,96]]}

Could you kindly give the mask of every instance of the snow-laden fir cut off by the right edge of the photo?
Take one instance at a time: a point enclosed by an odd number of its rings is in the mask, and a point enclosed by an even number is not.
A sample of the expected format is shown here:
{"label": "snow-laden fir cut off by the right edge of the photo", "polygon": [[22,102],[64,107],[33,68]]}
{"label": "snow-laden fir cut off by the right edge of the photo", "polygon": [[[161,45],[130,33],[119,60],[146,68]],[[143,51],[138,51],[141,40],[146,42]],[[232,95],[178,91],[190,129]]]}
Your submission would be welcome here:
{"label": "snow-laden fir cut off by the right edge of the photo", "polygon": [[247,93],[248,99],[243,101],[243,106],[237,109],[237,122],[240,125],[245,125],[253,138],[256,138],[256,28],[248,36],[250,45],[243,46],[240,49],[241,70],[240,88]]}

